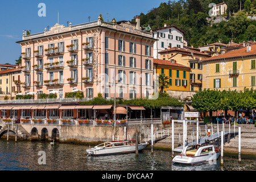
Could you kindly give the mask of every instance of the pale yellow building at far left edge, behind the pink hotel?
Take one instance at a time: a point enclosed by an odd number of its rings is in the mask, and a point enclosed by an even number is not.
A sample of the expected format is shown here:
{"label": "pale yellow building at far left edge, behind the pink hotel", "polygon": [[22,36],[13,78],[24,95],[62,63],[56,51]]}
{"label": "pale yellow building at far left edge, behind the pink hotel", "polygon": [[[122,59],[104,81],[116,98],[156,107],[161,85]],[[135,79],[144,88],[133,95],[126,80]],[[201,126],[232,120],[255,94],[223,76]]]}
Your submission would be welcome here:
{"label": "pale yellow building at far left edge, behind the pink hotel", "polygon": [[21,68],[5,69],[0,71],[0,100],[6,96],[14,98],[20,92]]}

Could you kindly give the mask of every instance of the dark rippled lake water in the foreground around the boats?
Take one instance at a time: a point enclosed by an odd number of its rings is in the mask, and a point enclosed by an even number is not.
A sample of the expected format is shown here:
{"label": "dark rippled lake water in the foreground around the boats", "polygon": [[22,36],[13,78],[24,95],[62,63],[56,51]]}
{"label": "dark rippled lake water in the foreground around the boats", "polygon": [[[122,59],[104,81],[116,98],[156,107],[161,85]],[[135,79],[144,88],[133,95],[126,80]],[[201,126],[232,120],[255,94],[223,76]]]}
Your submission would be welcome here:
{"label": "dark rippled lake water in the foreground around the boats", "polygon": [[[220,158],[216,164],[187,166],[173,164],[171,151],[143,150],[135,153],[110,156],[86,156],[89,146],[49,142],[6,142],[0,140],[1,171],[255,171],[254,159],[224,156],[224,166]],[[40,151],[46,154],[46,164],[39,164]]]}

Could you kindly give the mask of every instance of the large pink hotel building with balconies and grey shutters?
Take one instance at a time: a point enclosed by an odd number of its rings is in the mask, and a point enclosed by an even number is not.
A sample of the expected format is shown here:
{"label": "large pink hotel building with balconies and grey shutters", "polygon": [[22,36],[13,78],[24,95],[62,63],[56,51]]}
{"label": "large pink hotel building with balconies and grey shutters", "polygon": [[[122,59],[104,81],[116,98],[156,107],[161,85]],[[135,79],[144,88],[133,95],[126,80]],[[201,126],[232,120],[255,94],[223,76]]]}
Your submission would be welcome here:
{"label": "large pink hotel building with balconies and grey shutters", "polygon": [[124,99],[151,96],[155,41],[152,32],[141,30],[138,16],[136,22],[109,23],[99,17],[23,33],[17,42],[22,48],[22,93],[56,90],[61,99],[79,89],[86,98],[98,93],[105,98],[114,98],[114,93]]}

